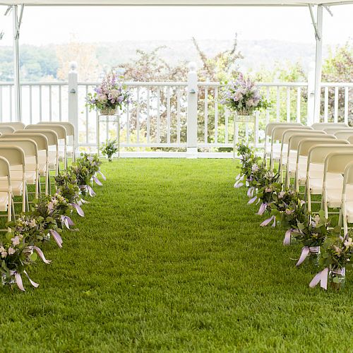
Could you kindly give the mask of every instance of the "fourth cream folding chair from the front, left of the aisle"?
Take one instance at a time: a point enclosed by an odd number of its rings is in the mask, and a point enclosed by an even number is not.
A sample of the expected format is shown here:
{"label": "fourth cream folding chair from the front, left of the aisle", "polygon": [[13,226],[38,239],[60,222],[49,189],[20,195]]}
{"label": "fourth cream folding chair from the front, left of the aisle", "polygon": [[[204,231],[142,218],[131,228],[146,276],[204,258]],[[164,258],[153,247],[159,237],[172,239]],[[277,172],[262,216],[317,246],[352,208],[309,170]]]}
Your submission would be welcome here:
{"label": "fourth cream folding chair from the front, left of the aisle", "polygon": [[[44,193],[45,195],[48,194],[49,189],[49,146],[48,146],[48,139],[43,133],[36,133],[30,130],[23,130],[23,131],[16,131],[13,134],[4,134],[0,136],[1,138],[30,138],[31,140],[35,140],[37,143],[38,149],[38,164],[39,164],[39,173],[40,177],[44,177]],[[41,184],[39,184],[40,193],[41,191]]]}

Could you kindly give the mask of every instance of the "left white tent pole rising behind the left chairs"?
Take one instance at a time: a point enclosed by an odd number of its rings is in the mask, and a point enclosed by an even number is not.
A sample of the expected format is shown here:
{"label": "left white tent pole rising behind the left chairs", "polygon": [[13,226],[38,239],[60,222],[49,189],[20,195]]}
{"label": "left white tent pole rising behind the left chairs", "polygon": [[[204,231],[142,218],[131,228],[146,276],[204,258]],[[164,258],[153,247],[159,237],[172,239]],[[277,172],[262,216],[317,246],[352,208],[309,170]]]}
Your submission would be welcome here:
{"label": "left white tent pole rising behind the left chairs", "polygon": [[13,14],[13,89],[15,98],[15,117],[16,121],[21,121],[21,98],[20,98],[20,58],[18,52],[18,6],[12,6]]}

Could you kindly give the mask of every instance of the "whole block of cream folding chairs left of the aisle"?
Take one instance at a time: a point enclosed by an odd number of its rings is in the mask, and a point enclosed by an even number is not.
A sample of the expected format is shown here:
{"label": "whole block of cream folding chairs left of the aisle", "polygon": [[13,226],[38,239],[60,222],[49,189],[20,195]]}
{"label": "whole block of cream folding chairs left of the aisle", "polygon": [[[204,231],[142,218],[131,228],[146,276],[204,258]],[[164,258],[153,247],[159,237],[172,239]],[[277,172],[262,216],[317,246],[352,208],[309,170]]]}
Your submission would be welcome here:
{"label": "whole block of cream folding chairs left of the aisle", "polygon": [[[8,220],[16,217],[14,196],[22,200],[22,212],[29,209],[28,186],[34,186],[35,198],[51,190],[50,172],[59,172],[59,162],[67,166],[68,137],[75,157],[75,133],[70,123],[42,122],[25,126],[22,123],[0,124],[0,211]],[[63,149],[59,149],[59,141]],[[6,231],[7,229],[1,229]]]}

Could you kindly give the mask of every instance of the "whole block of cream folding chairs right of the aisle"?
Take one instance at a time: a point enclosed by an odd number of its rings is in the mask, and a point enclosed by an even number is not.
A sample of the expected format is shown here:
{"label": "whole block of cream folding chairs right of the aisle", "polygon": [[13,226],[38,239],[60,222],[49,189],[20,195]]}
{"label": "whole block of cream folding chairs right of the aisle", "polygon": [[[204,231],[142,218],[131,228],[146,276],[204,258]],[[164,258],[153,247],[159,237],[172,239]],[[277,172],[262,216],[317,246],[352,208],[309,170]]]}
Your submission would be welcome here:
{"label": "whole block of cream folding chairs right of the aisle", "polygon": [[[278,161],[281,178],[285,175],[285,186],[298,192],[300,186],[305,186],[309,212],[313,195],[321,195],[321,208],[326,217],[329,208],[340,208],[339,222],[347,232],[347,223],[353,222],[353,128],[343,123],[319,123],[310,127],[288,123],[269,125],[266,134],[271,136],[270,167]],[[273,148],[275,141],[280,142],[277,153]]]}

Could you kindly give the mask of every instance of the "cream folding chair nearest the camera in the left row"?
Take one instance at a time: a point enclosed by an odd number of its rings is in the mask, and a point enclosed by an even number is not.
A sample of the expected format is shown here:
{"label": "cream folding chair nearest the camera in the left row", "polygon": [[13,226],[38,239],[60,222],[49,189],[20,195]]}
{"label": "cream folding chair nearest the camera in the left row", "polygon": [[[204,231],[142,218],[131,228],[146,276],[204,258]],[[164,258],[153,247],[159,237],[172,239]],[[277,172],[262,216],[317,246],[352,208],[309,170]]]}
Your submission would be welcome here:
{"label": "cream folding chair nearest the camera in the left row", "polygon": [[[0,156],[0,179],[2,181],[7,181],[7,192],[0,191],[0,212],[7,212],[7,215],[0,215],[1,217],[7,216],[7,221],[10,222],[12,219],[12,210],[13,210],[13,196],[11,189],[11,172],[10,164],[6,158]],[[3,183],[6,188],[6,183]],[[13,213],[14,214],[14,213]],[[10,229],[0,229],[0,232],[8,232]]]}

